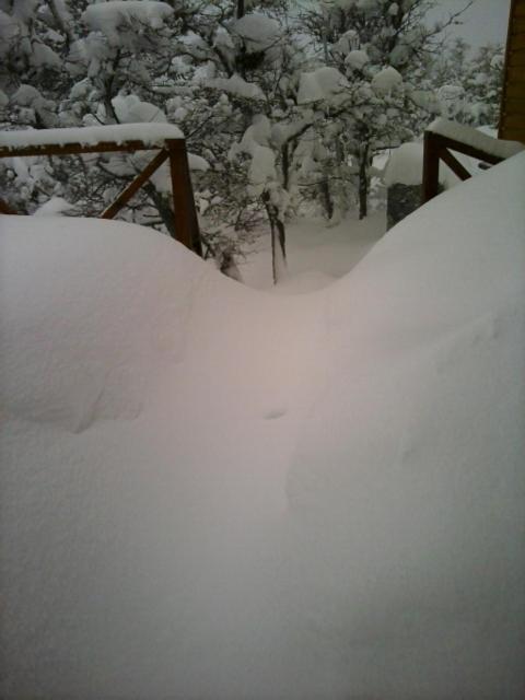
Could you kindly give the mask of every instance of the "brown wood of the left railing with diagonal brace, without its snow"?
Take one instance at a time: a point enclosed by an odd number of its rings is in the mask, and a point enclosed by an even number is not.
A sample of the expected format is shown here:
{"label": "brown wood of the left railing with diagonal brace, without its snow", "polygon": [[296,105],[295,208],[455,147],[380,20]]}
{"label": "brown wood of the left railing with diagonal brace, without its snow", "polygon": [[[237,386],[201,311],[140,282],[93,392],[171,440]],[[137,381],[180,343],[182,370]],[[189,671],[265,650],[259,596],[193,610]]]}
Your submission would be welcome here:
{"label": "brown wood of the left railing with diagonal brace, without its snow", "polygon": [[[174,237],[198,255],[202,254],[199,224],[195,209],[194,191],[189,176],[188,156],[184,139],[165,139],[163,147],[137,177],[120,192],[115,201],[100,215],[113,219],[131,197],[150,179],[159,167],[170,161],[170,174],[173,194],[173,229]],[[156,147],[158,149],[159,147]],[[32,155],[74,155],[84,153],[108,153],[152,151],[155,147],[140,140],[128,140],[117,143],[104,141],[95,144],[52,143],[24,147],[0,147],[0,158],[24,158]],[[0,213],[16,214],[5,201],[0,199]]]}

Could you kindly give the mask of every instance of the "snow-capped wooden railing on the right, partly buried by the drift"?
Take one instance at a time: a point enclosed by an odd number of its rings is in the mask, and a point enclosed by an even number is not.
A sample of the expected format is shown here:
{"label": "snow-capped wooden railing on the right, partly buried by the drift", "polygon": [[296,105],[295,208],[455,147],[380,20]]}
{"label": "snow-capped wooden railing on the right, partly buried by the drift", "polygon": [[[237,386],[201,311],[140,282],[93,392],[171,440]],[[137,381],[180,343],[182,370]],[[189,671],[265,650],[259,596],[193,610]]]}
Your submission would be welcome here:
{"label": "snow-capped wooden railing on the right, partly buried by the drift", "polygon": [[525,144],[518,141],[494,139],[471,127],[436,119],[424,132],[422,203],[439,194],[440,161],[448,165],[459,179],[470,177],[451,151],[497,165],[523,150]]}

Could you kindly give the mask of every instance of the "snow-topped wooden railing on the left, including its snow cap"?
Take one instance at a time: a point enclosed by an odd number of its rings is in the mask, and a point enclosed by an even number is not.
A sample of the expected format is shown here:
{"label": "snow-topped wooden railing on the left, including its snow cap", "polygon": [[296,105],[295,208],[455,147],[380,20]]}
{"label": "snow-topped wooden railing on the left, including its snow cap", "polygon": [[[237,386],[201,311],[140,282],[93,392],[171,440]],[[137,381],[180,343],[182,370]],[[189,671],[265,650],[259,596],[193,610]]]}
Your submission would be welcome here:
{"label": "snow-topped wooden railing on the left, including its snow cap", "polygon": [[[197,212],[189,176],[186,141],[167,124],[127,124],[72,129],[0,131],[0,158],[73,155],[161,150],[102,213],[113,219],[159,167],[170,162],[175,238],[201,255]],[[0,213],[16,212],[0,198]]]}

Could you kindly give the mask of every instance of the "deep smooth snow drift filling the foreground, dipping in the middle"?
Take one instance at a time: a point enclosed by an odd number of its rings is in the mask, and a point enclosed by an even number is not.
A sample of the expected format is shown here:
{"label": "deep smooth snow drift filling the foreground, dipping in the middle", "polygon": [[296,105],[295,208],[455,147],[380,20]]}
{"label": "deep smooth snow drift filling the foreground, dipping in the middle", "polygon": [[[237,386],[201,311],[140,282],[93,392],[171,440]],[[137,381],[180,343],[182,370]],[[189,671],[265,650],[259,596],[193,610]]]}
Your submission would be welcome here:
{"label": "deep smooth snow drift filling the foreground, dipping in the middle", "polygon": [[295,296],[0,218],[2,696],[522,698],[524,184]]}

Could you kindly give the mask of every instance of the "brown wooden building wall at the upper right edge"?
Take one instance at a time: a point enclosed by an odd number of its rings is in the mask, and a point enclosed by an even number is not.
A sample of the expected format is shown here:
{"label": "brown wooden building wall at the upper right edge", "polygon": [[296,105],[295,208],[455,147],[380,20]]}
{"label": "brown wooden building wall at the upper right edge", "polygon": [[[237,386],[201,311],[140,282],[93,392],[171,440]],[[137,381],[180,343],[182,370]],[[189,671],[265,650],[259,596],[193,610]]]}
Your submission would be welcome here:
{"label": "brown wooden building wall at the upper right edge", "polygon": [[511,3],[498,136],[525,143],[525,0]]}

